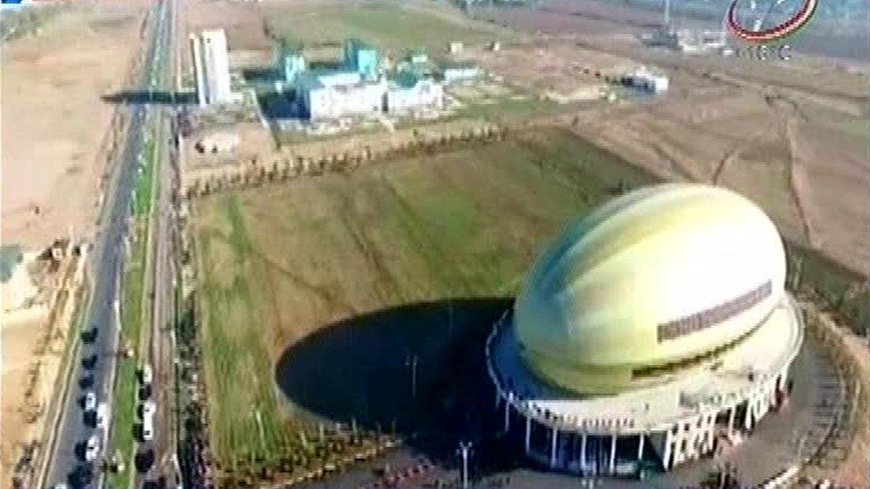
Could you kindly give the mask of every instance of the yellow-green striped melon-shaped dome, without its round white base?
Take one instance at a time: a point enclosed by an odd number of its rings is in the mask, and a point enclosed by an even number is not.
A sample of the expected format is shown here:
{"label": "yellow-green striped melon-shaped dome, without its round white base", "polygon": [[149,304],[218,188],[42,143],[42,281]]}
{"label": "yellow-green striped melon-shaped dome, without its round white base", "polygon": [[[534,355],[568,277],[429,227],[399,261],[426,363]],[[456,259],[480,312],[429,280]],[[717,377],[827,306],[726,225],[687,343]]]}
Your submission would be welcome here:
{"label": "yellow-green striped melon-shaped dome, without its round white base", "polygon": [[576,392],[620,391],[751,332],[784,297],[776,226],[720,187],[629,192],[562,232],[514,306],[521,355]]}

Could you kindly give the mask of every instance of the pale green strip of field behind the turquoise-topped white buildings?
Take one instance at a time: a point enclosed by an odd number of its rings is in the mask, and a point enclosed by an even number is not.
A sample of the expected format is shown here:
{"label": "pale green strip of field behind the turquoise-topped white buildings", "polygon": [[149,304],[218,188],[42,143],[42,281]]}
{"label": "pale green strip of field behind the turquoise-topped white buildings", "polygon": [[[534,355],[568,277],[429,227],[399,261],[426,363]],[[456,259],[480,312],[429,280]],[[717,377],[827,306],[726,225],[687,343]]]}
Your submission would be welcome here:
{"label": "pale green strip of field behind the turquoise-topped white buildings", "polygon": [[303,44],[357,37],[385,49],[429,47],[443,51],[452,40],[476,44],[515,38],[506,30],[496,32],[489,26],[475,26],[458,17],[431,13],[439,12],[438,6],[429,6],[431,11],[424,11],[375,0],[344,4],[271,4],[263,8],[277,35]]}

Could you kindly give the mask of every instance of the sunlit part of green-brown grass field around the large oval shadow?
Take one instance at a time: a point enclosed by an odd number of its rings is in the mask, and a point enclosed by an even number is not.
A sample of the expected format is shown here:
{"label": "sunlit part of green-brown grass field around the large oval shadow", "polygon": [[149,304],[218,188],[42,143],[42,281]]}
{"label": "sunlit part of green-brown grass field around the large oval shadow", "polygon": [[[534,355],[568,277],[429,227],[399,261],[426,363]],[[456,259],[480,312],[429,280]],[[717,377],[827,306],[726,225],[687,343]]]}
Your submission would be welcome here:
{"label": "sunlit part of green-brown grass field around the large oval shadow", "polygon": [[[643,177],[566,132],[546,130],[197,201],[218,458],[271,449],[290,436],[293,410],[271,372],[301,338],[392,306],[509,297],[541,243],[620,180],[636,185]],[[369,420],[389,419],[388,407]],[[349,406],[333,409],[313,411],[330,417]]]}

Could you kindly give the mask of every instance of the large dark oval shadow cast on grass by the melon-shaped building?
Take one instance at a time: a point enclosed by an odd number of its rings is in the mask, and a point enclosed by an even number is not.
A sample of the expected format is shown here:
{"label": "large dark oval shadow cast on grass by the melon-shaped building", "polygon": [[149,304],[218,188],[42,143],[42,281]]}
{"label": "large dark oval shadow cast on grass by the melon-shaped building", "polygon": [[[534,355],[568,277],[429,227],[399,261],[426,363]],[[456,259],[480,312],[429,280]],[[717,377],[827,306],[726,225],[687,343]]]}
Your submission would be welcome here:
{"label": "large dark oval shadow cast on grass by the melon-shaped building", "polygon": [[[515,453],[496,442],[501,424],[484,344],[509,298],[454,299],[399,306],[324,327],[284,352],[275,379],[284,395],[317,418],[372,430],[394,429],[432,460],[456,460],[474,442],[492,469]],[[412,371],[416,358],[416,395]],[[497,446],[497,447],[496,447]]]}

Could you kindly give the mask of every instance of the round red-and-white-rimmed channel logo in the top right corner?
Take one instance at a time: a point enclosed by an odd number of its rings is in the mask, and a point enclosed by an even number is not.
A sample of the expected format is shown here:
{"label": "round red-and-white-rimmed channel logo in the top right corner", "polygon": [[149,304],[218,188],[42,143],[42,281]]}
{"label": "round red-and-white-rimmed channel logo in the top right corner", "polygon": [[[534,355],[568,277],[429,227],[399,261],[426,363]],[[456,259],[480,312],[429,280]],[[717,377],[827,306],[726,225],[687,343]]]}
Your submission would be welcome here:
{"label": "round red-and-white-rimmed channel logo in the top right corner", "polygon": [[725,18],[734,37],[752,44],[792,36],[816,12],[818,0],[734,0]]}

